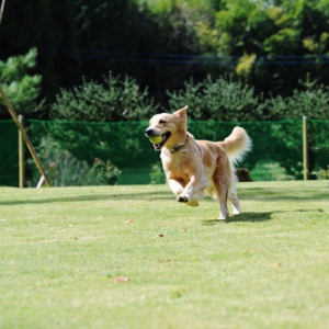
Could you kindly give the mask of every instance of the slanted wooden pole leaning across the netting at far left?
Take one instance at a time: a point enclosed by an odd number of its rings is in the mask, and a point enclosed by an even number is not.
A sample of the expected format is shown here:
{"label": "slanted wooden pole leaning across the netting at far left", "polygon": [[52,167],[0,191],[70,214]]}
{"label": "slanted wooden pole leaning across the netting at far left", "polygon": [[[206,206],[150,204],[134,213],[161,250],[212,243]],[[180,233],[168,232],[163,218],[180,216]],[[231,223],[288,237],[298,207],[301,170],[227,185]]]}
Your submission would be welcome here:
{"label": "slanted wooden pole leaning across the netting at far left", "polygon": [[10,115],[12,116],[14,123],[16,124],[16,126],[19,127],[19,129],[21,131],[22,137],[23,137],[23,139],[24,139],[24,141],[25,141],[25,144],[26,144],[26,146],[27,146],[27,148],[29,148],[29,150],[30,150],[30,152],[31,152],[31,155],[32,155],[32,157],[33,157],[33,159],[34,159],[34,161],[35,161],[35,163],[36,163],[39,172],[41,172],[41,174],[45,177],[45,181],[46,181],[47,185],[52,186],[50,180],[49,180],[49,178],[48,178],[48,175],[47,175],[47,173],[46,173],[46,171],[45,171],[45,169],[44,169],[41,160],[38,159],[37,154],[36,154],[35,149],[34,149],[34,147],[33,147],[33,145],[32,145],[32,143],[31,143],[31,140],[30,140],[30,138],[29,138],[25,129],[24,129],[24,127],[20,123],[20,121],[18,118],[18,115],[16,115],[15,111],[13,110],[12,104],[10,103],[10,101],[9,101],[7,94],[4,93],[1,84],[0,84],[0,93],[1,93],[1,95],[3,98],[3,101],[4,101],[4,103],[5,103],[7,107],[8,107],[8,111],[10,113]]}

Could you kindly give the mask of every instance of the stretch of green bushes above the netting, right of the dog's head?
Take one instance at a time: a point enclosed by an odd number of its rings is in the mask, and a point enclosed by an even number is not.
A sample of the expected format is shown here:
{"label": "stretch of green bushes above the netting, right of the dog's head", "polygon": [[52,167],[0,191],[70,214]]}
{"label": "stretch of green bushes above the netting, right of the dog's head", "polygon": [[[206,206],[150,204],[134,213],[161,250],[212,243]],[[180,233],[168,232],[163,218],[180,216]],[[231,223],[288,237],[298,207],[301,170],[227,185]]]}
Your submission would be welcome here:
{"label": "stretch of green bushes above the netting, right of the dog's head", "polygon": [[300,82],[305,90],[294,90],[291,97],[264,99],[242,81],[224,77],[185,82],[184,90],[168,91],[170,109],[190,106],[189,117],[195,121],[251,122],[292,120],[309,116],[329,118],[329,88],[316,81]]}

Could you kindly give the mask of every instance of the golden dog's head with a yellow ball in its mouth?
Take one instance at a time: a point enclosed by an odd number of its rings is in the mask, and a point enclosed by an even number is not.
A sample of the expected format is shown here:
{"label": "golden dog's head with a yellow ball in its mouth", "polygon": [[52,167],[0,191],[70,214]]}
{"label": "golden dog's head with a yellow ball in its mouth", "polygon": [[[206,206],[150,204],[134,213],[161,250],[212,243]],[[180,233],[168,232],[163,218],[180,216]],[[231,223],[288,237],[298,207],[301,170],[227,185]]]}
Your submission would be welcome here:
{"label": "golden dog's head with a yellow ball in its mouth", "polygon": [[180,109],[172,114],[156,114],[149,121],[149,126],[145,131],[145,135],[150,139],[158,139],[157,143],[154,144],[156,150],[160,150],[164,145],[167,148],[172,148],[185,140],[188,107],[189,106]]}

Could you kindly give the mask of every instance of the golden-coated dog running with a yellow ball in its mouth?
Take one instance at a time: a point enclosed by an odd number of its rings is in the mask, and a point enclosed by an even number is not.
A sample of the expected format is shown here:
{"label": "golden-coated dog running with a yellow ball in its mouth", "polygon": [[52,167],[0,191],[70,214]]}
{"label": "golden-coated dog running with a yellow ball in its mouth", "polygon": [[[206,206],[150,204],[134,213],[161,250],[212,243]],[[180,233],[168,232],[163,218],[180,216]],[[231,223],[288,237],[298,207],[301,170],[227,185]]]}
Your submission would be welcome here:
{"label": "golden-coated dog running with a yellow ball in its mouth", "polygon": [[147,137],[159,139],[154,146],[161,150],[171,191],[179,202],[190,206],[197,206],[197,198],[206,192],[219,203],[218,219],[229,216],[227,200],[232,203],[234,214],[240,214],[234,163],[250,150],[249,136],[243,128],[235,127],[224,141],[195,140],[186,131],[186,110],[157,114],[146,129]]}

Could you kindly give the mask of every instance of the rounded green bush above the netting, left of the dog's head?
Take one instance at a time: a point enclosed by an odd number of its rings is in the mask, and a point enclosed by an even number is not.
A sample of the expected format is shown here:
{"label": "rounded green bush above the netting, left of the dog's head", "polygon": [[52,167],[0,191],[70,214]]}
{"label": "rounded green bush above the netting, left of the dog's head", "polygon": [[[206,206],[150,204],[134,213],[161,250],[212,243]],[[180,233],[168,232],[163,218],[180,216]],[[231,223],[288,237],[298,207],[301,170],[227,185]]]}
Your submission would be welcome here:
{"label": "rounded green bush above the netting, left of the dog's head", "polygon": [[72,90],[63,89],[50,105],[50,117],[68,121],[138,121],[155,113],[158,105],[131,77],[109,72],[103,83],[83,80]]}

